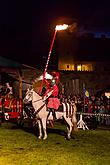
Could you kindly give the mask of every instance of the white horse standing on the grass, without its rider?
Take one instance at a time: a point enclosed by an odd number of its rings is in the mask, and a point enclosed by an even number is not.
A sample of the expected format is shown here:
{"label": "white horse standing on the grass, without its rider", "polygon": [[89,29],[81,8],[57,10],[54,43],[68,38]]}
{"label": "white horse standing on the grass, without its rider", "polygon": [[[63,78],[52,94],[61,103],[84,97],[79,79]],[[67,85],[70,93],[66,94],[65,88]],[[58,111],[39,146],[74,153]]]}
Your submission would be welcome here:
{"label": "white horse standing on the grass, without its rider", "polygon": [[[53,115],[50,113],[48,117],[48,111],[47,111],[47,106],[45,101],[43,100],[42,96],[40,96],[38,93],[34,91],[34,89],[28,90],[26,92],[25,98],[23,99],[24,104],[32,101],[32,106],[35,110],[35,115],[36,115],[36,121],[38,123],[39,127],[39,139],[42,138],[43,132],[44,132],[44,137],[43,139],[45,140],[47,138],[47,130],[46,130],[46,125],[47,125],[47,120],[52,120]],[[76,110],[76,106],[74,105],[74,110]],[[47,119],[48,118],[48,119]],[[64,118],[68,127],[67,127],[67,138],[71,138],[71,132],[74,124],[76,123],[76,116],[75,116],[75,111],[72,114],[72,117],[67,117],[66,114],[66,108],[65,105],[63,104],[63,111],[58,112],[56,111],[56,118],[57,119],[62,119]],[[42,132],[43,129],[43,132]]]}

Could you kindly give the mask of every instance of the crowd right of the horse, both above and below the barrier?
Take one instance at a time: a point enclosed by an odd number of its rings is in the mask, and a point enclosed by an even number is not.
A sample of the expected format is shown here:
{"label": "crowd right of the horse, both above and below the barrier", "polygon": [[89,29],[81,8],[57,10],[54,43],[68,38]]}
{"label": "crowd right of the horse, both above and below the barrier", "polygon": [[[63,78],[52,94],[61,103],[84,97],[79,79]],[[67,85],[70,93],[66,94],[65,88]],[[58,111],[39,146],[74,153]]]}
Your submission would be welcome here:
{"label": "crowd right of the horse, both above and below the barrier", "polygon": [[[101,125],[110,125],[110,98],[105,95],[84,97],[81,95],[61,96],[61,100],[66,100],[68,103],[75,102],[77,112],[88,113],[84,118],[91,119]],[[96,116],[90,116],[96,114]],[[104,114],[104,116],[101,116]],[[108,116],[106,116],[108,115]],[[92,122],[93,123],[93,122]]]}

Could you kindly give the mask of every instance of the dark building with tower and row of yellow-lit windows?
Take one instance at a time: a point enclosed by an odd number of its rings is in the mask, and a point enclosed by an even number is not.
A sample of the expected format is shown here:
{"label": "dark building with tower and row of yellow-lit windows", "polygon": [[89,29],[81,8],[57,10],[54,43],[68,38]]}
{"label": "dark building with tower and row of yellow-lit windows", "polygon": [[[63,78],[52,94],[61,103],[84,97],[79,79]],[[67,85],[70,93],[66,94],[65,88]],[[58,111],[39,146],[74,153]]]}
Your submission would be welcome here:
{"label": "dark building with tower and row of yellow-lit windows", "polygon": [[58,70],[67,95],[82,94],[84,85],[91,95],[110,86],[110,61],[106,59],[110,39],[81,38],[85,44],[89,43],[86,46],[76,36],[65,33],[59,37]]}

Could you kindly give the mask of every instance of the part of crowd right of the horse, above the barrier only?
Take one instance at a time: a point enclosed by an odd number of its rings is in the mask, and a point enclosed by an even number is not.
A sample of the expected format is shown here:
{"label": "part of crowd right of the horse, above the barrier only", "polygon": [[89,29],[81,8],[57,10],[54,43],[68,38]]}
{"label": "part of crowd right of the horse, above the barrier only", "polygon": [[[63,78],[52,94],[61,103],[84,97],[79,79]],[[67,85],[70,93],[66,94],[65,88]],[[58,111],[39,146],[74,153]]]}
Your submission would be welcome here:
{"label": "part of crowd right of the horse, above the barrier only", "polygon": [[69,103],[74,101],[78,112],[110,114],[110,98],[105,95],[85,97],[81,95],[61,96]]}

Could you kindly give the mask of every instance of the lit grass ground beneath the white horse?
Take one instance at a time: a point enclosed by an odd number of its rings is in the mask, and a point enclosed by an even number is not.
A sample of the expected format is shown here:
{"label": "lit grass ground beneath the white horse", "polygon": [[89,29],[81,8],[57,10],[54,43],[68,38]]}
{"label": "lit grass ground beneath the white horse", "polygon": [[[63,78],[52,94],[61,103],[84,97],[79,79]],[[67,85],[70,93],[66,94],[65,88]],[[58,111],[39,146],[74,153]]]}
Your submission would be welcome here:
{"label": "lit grass ground beneath the white horse", "polygon": [[11,123],[0,126],[0,165],[109,165],[109,130],[79,130],[65,140],[65,126],[48,129],[48,139],[38,140],[33,130]]}

